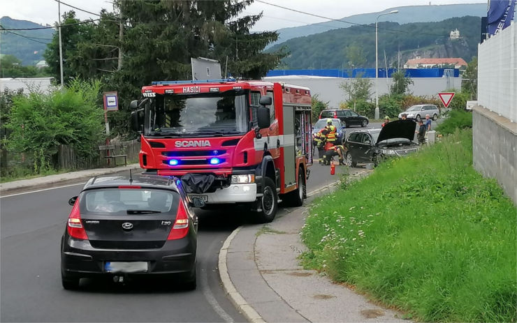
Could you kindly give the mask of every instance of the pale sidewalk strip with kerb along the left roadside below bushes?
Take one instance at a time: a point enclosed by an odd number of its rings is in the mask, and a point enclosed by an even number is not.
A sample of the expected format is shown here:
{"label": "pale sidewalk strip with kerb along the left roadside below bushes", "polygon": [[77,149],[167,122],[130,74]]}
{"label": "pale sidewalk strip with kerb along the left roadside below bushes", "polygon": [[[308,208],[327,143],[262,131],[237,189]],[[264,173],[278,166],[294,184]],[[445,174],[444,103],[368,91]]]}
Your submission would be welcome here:
{"label": "pale sidewalk strip with kerb along the left roadside below bushes", "polygon": [[[88,179],[91,179],[94,176],[101,176],[105,174],[112,174],[117,172],[124,172],[126,170],[140,170],[140,164],[133,164],[133,165],[127,165],[123,167],[114,167],[114,168],[97,168],[96,170],[85,170],[85,171],[79,171],[75,172],[78,174],[77,177],[73,178],[64,178],[59,179],[59,176],[70,176],[71,173],[64,173],[64,174],[57,174],[57,175],[50,175],[54,177],[58,177],[57,179],[49,179],[48,181],[44,181],[42,183],[34,183],[34,181],[41,180],[48,176],[43,177],[36,177],[34,179],[22,179],[20,180],[19,186],[15,187],[5,187],[10,186],[13,184],[13,182],[6,182],[0,184],[0,195],[6,196],[6,195],[13,195],[17,193],[29,193],[33,190],[41,190],[43,188],[53,188],[57,186],[63,186],[73,183],[81,183],[82,181],[86,182]],[[89,172],[89,173],[88,173]],[[81,174],[84,173],[84,174]],[[31,180],[33,183],[31,183]]]}

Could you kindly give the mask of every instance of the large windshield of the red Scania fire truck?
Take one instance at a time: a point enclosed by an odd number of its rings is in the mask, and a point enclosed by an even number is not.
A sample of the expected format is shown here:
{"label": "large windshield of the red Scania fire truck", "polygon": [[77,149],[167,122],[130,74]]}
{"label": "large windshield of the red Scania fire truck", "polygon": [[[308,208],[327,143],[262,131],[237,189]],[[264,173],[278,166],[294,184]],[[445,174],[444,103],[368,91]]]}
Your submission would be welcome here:
{"label": "large windshield of the red Scania fire truck", "polygon": [[147,135],[217,136],[249,130],[249,105],[244,91],[156,94],[149,111]]}

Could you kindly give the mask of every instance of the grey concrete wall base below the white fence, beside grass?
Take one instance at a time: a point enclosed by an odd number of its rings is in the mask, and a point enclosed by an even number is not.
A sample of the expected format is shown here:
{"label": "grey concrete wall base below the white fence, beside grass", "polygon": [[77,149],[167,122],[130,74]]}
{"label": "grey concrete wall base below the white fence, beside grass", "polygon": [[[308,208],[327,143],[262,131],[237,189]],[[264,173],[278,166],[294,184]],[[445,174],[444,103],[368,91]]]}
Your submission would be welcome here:
{"label": "grey concrete wall base below the white fence, beside grass", "polygon": [[517,123],[481,106],[472,113],[474,168],[497,179],[517,205]]}

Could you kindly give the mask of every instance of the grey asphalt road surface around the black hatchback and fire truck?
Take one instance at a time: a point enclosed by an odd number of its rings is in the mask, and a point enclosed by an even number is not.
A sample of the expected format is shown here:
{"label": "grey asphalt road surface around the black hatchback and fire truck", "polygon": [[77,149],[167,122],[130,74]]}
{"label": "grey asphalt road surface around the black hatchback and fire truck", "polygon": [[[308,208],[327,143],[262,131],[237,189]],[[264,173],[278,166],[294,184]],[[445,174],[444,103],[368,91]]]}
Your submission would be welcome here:
{"label": "grey asphalt road surface around the black hatchback and fire truck", "polygon": [[[335,181],[330,167],[314,165],[307,191]],[[338,168],[338,173],[340,169]],[[221,288],[219,249],[239,225],[242,209],[199,211],[198,288],[166,283],[82,280],[80,291],[61,287],[59,242],[82,184],[2,197],[1,322],[244,322]]]}

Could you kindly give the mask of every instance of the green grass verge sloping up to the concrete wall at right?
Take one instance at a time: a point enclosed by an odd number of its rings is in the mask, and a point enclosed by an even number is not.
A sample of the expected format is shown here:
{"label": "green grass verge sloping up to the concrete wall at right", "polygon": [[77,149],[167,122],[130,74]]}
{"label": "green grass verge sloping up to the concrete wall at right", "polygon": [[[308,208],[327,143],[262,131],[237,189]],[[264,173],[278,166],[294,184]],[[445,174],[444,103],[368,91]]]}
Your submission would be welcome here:
{"label": "green grass verge sloping up to the concrete wall at right", "polygon": [[425,322],[516,322],[517,211],[456,131],[316,200],[305,266]]}

